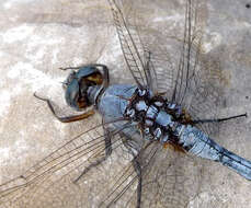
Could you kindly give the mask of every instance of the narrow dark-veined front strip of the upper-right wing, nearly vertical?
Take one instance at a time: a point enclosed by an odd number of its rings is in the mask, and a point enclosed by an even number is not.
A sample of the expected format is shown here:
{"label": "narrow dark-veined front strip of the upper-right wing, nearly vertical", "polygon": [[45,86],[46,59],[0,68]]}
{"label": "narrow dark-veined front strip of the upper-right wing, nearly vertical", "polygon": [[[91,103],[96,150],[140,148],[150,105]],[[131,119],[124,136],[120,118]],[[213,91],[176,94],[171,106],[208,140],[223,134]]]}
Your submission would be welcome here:
{"label": "narrow dark-veined front strip of the upper-right wing, nearly vertical", "polygon": [[172,93],[172,101],[179,104],[184,102],[187,90],[190,90],[191,79],[194,78],[197,71],[205,21],[205,2],[201,3],[197,0],[187,0],[185,2],[184,33],[182,41],[180,41],[181,55]]}

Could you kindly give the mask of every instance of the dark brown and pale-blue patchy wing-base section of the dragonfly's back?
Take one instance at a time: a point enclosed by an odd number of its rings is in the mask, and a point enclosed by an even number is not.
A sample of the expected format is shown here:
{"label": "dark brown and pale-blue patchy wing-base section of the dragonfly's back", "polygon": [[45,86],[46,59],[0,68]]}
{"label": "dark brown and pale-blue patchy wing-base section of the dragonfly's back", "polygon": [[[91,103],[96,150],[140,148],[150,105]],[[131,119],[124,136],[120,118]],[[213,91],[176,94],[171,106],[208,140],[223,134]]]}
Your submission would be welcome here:
{"label": "dark brown and pale-blue patchy wing-base section of the dragonfly's back", "polygon": [[[172,114],[171,114],[172,112]],[[146,138],[152,138],[167,142],[169,135],[175,130],[176,106],[162,96],[153,96],[151,91],[136,89],[129,99],[124,116],[136,122],[140,126]]]}

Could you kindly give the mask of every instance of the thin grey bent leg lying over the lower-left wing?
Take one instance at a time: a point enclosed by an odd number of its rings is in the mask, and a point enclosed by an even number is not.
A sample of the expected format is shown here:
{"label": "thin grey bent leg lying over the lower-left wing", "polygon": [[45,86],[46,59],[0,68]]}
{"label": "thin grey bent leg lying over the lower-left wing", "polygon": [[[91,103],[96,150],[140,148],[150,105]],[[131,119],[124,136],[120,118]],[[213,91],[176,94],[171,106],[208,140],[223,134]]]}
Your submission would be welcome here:
{"label": "thin grey bent leg lying over the lower-left wing", "polygon": [[101,164],[102,162],[104,162],[111,154],[112,154],[112,135],[110,132],[110,130],[107,128],[104,128],[104,142],[105,142],[105,155],[98,159],[94,162],[91,162],[90,165],[88,165],[83,172],[73,181],[73,183],[78,183],[78,181],[84,175],[87,174],[92,167],[98,166],[99,164]]}

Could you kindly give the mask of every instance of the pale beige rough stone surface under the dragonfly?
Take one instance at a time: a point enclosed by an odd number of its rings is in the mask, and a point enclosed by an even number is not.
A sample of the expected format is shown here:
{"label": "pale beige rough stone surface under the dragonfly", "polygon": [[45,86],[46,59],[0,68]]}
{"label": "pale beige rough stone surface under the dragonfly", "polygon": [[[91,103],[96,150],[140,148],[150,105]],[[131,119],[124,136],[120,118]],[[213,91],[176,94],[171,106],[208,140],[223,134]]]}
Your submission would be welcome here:
{"label": "pale beige rough stone surface under the dragonfly", "polygon": [[[153,7],[156,13],[151,15],[159,15],[167,24],[175,25],[181,21],[180,10],[171,10],[169,1],[147,1],[145,4]],[[243,0],[210,0],[207,3],[205,50],[220,58],[220,67],[227,74],[223,116],[251,114],[251,9],[246,5]],[[152,21],[151,15],[142,16]],[[2,183],[22,174],[99,119],[60,124],[45,103],[34,99],[36,91],[58,106],[66,105],[60,82],[67,72],[58,70],[59,67],[99,61],[114,68],[111,72],[113,82],[119,82],[118,69],[124,63],[105,1],[2,0],[0,28]],[[249,117],[224,125],[217,141],[251,160],[250,135]],[[189,207],[250,207],[250,182],[208,161],[203,171],[205,182]],[[91,200],[90,195],[87,200]]]}

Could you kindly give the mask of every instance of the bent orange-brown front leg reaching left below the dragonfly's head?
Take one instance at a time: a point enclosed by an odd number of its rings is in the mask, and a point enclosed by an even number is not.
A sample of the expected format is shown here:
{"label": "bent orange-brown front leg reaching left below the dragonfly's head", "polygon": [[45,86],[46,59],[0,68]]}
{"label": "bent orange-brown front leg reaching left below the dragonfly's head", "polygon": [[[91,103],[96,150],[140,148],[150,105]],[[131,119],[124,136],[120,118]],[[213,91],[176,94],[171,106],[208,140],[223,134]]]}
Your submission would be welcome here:
{"label": "bent orange-brown front leg reaching left below the dragonfly's head", "polygon": [[83,114],[80,114],[80,115],[71,115],[71,116],[65,116],[65,117],[59,117],[54,107],[53,107],[53,104],[52,102],[48,100],[48,99],[43,99],[38,95],[36,95],[36,93],[34,93],[34,96],[41,101],[44,101],[47,103],[50,112],[53,113],[53,115],[61,123],[71,123],[71,122],[77,122],[77,120],[81,120],[81,119],[84,119],[84,118],[88,118],[89,116],[93,115],[94,114],[94,111],[93,109],[90,109]]}

